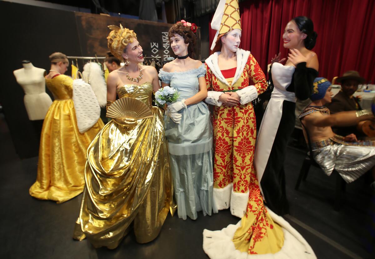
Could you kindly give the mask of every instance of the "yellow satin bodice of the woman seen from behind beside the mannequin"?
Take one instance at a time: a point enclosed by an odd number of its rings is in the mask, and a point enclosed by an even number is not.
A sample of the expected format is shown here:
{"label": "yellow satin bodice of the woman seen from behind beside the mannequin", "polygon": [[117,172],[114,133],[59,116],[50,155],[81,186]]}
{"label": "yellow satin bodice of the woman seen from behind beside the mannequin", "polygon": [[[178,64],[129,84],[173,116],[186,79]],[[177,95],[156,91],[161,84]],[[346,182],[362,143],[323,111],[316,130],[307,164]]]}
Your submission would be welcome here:
{"label": "yellow satin bodice of the woman seen from behind beside the mannequin", "polygon": [[46,86],[55,99],[71,99],[73,96],[73,79],[67,75],[58,75],[52,79],[46,78]]}

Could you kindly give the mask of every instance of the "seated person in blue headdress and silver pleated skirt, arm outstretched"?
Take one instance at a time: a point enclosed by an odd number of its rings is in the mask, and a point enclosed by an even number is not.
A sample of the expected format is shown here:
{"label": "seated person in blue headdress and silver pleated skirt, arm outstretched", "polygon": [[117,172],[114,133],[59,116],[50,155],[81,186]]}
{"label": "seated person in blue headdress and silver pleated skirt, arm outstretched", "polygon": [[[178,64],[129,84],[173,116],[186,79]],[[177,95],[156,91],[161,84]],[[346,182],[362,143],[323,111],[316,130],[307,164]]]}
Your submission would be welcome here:
{"label": "seated person in blue headdress and silver pleated skirt, arm outstretched", "polygon": [[[335,169],[348,183],[369,170],[372,170],[375,179],[375,141],[357,141],[354,134],[339,136],[331,128],[356,125],[362,120],[375,122],[375,103],[371,109],[341,111],[330,115],[325,106],[331,102],[333,95],[330,86],[326,78],[315,78],[310,97],[312,103],[299,116],[303,134],[311,144],[312,156],[327,175]],[[371,187],[375,189],[375,181]]]}

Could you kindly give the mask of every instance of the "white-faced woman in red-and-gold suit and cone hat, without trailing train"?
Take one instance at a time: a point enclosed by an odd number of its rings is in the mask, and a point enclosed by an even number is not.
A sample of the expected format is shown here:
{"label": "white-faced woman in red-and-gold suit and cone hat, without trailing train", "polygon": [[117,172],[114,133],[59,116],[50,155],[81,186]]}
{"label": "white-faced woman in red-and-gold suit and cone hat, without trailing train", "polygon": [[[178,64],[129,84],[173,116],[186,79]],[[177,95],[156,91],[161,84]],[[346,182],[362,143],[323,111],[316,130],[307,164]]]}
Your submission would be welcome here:
{"label": "white-faced woman in red-and-gold suit and cone hat, without trailing train", "polygon": [[214,105],[213,197],[217,209],[230,206],[233,215],[242,217],[249,188],[257,185],[253,172],[256,123],[252,101],[267,89],[267,81],[250,51],[239,48],[237,1],[220,1],[211,26],[218,30],[211,46],[213,54],[205,61],[206,102]]}

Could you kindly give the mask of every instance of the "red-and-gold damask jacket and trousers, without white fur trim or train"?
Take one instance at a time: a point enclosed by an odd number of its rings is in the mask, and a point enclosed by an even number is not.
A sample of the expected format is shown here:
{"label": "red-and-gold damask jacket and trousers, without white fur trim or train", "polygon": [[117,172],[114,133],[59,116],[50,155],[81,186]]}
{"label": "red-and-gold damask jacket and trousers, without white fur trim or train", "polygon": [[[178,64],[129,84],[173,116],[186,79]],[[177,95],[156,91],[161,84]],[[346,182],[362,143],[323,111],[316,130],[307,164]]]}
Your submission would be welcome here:
{"label": "red-and-gold damask jacket and trousers, without white fur trim or train", "polygon": [[[222,92],[254,84],[259,95],[267,89],[266,77],[251,54],[241,76],[234,83],[233,78],[227,78],[228,84],[220,81],[207,63],[206,69],[208,90]],[[235,193],[247,193],[251,178],[256,178],[252,170],[256,137],[253,105],[249,102],[237,106],[214,106],[213,109],[214,188],[225,188],[233,183]]]}

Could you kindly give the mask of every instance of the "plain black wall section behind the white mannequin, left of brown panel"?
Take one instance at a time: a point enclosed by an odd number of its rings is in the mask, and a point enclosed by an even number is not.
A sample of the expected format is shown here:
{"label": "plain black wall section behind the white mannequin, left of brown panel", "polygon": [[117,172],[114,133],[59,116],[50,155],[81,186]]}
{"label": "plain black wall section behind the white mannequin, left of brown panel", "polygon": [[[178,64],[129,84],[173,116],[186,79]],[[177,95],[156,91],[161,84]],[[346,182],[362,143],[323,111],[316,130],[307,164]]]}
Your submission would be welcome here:
{"label": "plain black wall section behind the white mannequin, left of brown panel", "polygon": [[40,8],[0,1],[2,24],[1,47],[3,83],[0,103],[3,106],[13,144],[20,158],[35,157],[39,150],[40,128],[28,119],[24,92],[13,75],[22,68],[22,60],[49,70],[48,56],[56,51],[81,56],[74,12]]}

